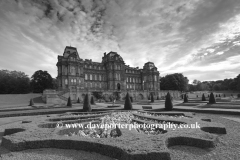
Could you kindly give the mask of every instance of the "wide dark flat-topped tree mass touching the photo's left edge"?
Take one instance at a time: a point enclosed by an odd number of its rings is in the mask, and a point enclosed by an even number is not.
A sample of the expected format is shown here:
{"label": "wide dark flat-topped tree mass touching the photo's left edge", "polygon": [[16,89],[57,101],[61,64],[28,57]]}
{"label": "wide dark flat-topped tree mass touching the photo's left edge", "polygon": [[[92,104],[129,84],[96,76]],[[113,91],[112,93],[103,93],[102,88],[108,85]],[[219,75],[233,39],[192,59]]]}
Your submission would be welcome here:
{"label": "wide dark flat-topped tree mass touching the photo's left edge", "polygon": [[25,94],[30,92],[30,79],[20,71],[0,70],[0,94]]}

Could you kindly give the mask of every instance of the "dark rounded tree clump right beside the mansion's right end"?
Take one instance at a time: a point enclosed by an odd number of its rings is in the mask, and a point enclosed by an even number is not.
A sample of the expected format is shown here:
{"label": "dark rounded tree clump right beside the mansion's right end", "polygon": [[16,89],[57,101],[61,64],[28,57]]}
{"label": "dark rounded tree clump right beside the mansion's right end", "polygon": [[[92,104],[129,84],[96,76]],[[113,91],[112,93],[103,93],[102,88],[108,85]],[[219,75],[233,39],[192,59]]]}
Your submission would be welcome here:
{"label": "dark rounded tree clump right beside the mansion's right end", "polygon": [[169,74],[161,78],[160,89],[187,91],[188,81],[188,78],[184,77],[182,73]]}

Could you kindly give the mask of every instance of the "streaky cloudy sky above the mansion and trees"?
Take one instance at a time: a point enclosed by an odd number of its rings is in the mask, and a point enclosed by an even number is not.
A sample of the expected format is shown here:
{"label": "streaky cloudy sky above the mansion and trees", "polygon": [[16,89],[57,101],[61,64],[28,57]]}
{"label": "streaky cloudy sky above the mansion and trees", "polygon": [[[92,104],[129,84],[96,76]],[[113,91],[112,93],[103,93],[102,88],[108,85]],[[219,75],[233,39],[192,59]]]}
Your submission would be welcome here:
{"label": "streaky cloudy sky above the mansion and trees", "polygon": [[240,74],[239,0],[0,0],[0,69],[57,76],[65,46],[190,81]]}

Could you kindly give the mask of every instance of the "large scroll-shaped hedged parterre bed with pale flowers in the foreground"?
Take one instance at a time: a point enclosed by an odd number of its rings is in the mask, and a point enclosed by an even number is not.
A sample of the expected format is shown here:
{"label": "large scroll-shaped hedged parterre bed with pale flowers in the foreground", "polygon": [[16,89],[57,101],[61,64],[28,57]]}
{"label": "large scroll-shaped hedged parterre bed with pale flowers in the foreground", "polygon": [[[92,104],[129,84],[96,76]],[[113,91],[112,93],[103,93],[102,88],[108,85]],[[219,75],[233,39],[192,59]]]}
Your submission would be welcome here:
{"label": "large scroll-shaped hedged parterre bed with pale flowers in the foreground", "polygon": [[[91,113],[90,113],[91,114]],[[180,113],[178,113],[179,115]],[[186,121],[187,118],[177,118],[172,116],[166,119],[156,118],[155,116],[143,116],[141,114],[132,112],[113,112],[111,115],[104,115],[100,120],[91,119],[90,122],[99,124],[101,123],[122,123],[132,124],[133,115],[143,117],[144,119],[136,119],[138,123],[161,123],[163,120],[171,121],[173,123],[183,124],[195,121],[201,121],[200,119],[188,118],[191,121]],[[86,118],[94,118],[94,116],[86,115]],[[56,116],[55,116],[56,118]],[[61,117],[62,118],[62,117]],[[63,117],[64,118],[64,117]],[[68,118],[68,117],[67,117]],[[75,118],[73,116],[73,118]],[[87,119],[80,120],[87,120]],[[2,146],[10,151],[21,151],[26,149],[35,148],[61,148],[61,149],[75,149],[85,150],[90,152],[97,152],[112,158],[117,159],[165,159],[170,160],[170,152],[168,147],[174,145],[189,145],[200,148],[212,148],[217,144],[217,135],[205,132],[201,129],[186,129],[186,130],[167,130],[163,133],[155,132],[157,134],[145,134],[146,130],[130,129],[129,127],[120,128],[121,136],[114,135],[110,131],[109,134],[102,135],[96,132],[87,130],[81,130],[79,128],[54,128],[46,127],[41,128],[40,125],[46,125],[48,119],[54,119],[52,117],[39,117],[32,119],[31,123],[19,123],[16,126],[11,126],[11,130],[17,128],[18,132],[12,132],[10,135],[6,135],[2,139]],[[181,119],[181,120],[180,120]],[[59,119],[60,120],[60,119]],[[183,120],[183,121],[182,121]],[[62,122],[72,122],[74,120],[68,119]],[[136,122],[135,121],[135,122]],[[82,124],[90,124],[89,122],[81,122]],[[215,127],[218,128],[219,124],[212,122],[200,122],[203,127]],[[51,123],[49,123],[51,124]],[[48,124],[48,125],[49,125]],[[54,123],[52,123],[54,124]],[[56,127],[56,126],[55,126]],[[224,128],[224,127],[223,127]],[[81,132],[79,132],[81,130]],[[15,130],[16,131],[16,130]],[[102,130],[103,131],[103,130]],[[158,131],[163,131],[158,129]],[[83,134],[84,132],[84,134]],[[90,133],[91,132],[91,133]],[[100,131],[99,131],[100,132]],[[144,132],[144,134],[143,134]],[[150,132],[150,131],[149,131]],[[89,133],[89,136],[87,135]],[[115,132],[116,134],[116,132]],[[159,136],[161,134],[161,136]],[[64,136],[65,135],[65,136]],[[67,135],[67,136],[66,136]],[[90,135],[95,135],[90,136]],[[114,137],[114,138],[112,138]]]}

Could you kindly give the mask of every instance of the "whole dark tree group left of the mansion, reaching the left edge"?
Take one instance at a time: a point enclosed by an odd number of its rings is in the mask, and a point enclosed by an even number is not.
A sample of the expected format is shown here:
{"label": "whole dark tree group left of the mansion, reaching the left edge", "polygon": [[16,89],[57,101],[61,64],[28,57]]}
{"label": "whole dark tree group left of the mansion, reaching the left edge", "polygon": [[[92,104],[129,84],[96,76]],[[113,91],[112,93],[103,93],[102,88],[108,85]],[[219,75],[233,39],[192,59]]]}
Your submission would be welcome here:
{"label": "whole dark tree group left of the mansion, reaching the left edge", "polygon": [[56,79],[47,71],[36,71],[30,79],[21,71],[0,70],[0,94],[42,93],[44,89],[56,87]]}

